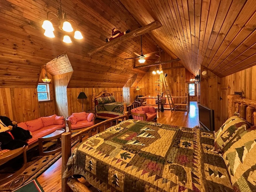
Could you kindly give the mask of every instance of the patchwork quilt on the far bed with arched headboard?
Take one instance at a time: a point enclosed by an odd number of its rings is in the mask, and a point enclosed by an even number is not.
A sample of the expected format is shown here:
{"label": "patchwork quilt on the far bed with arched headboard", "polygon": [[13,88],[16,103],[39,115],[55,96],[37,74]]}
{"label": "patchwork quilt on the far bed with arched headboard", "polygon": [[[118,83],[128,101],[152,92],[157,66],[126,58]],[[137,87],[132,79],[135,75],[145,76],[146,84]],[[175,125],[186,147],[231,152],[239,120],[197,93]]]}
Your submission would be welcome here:
{"label": "patchwork quilt on the far bed with arched headboard", "polygon": [[[128,106],[130,103],[126,103]],[[96,114],[112,114],[121,116],[124,114],[124,103],[123,102],[112,102],[105,104],[98,104],[95,106]]]}

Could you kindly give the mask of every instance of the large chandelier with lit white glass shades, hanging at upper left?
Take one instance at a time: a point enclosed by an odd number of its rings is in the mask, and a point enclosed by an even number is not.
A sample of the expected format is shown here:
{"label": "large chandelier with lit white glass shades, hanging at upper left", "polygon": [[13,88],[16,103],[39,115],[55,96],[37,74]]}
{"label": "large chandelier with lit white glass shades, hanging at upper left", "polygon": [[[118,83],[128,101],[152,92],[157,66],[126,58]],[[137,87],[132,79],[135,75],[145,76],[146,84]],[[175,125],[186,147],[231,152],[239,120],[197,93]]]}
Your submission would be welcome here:
{"label": "large chandelier with lit white glass shades, hanging at upper left", "polygon": [[[73,32],[74,29],[72,28],[72,25],[70,24],[70,22],[74,22],[71,19],[67,19],[67,15],[66,13],[63,11],[63,15],[62,15],[62,8],[61,8],[61,0],[60,0],[60,8],[58,8],[58,13],[55,14],[54,12],[48,11],[47,12],[47,19],[44,20],[43,24],[42,24],[42,28],[45,30],[44,35],[46,37],[50,37],[50,38],[54,38],[54,27],[53,26],[58,26],[58,28],[64,32]],[[48,19],[48,15],[49,14],[53,14],[55,17],[54,18],[50,18]],[[56,20],[57,24],[52,24],[51,20]],[[75,39],[82,39],[82,33],[80,31],[77,30],[77,24],[76,22],[74,22],[74,24],[76,25],[76,31],[74,32],[74,38]],[[68,34],[65,34],[63,36],[63,42],[65,43],[71,43],[71,39],[70,36]]]}

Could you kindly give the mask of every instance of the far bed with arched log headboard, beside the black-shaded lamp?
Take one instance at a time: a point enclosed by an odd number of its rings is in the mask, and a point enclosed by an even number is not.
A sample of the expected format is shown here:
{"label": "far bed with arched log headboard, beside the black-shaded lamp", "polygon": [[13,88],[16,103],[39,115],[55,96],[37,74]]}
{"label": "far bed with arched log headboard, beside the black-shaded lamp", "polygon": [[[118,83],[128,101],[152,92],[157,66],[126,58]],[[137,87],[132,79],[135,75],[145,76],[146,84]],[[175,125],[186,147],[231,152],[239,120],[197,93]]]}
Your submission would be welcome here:
{"label": "far bed with arched log headboard, beside the black-shaded lamp", "polygon": [[109,119],[124,115],[125,111],[130,113],[134,102],[116,102],[115,97],[107,91],[102,91],[96,96],[92,95],[93,110],[95,109],[96,117]]}

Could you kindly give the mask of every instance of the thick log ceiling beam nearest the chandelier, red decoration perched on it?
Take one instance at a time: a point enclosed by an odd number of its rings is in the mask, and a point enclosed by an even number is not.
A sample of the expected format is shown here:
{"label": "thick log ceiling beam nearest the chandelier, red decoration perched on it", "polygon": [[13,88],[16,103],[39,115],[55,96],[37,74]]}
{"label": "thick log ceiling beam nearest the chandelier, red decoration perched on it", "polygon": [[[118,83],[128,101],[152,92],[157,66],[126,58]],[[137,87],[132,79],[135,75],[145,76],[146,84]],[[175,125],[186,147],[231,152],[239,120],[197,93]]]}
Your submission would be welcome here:
{"label": "thick log ceiling beam nearest the chandelier, red decoration perched on it", "polygon": [[114,46],[115,44],[118,44],[118,43],[123,42],[123,41],[128,40],[128,39],[132,39],[136,36],[145,34],[147,32],[150,32],[151,30],[157,29],[161,26],[162,26],[162,24],[160,22],[154,21],[154,22],[152,22],[152,23],[150,23],[150,24],[148,24],[144,27],[140,27],[136,30],[133,30],[130,33],[127,33],[123,36],[120,36],[120,38],[113,39],[112,41],[107,42],[106,44],[104,44],[102,46],[99,46],[98,48],[94,48],[94,49],[88,51],[88,55],[91,56],[92,54],[97,53],[101,50],[104,50],[105,48],[107,48],[109,46]]}

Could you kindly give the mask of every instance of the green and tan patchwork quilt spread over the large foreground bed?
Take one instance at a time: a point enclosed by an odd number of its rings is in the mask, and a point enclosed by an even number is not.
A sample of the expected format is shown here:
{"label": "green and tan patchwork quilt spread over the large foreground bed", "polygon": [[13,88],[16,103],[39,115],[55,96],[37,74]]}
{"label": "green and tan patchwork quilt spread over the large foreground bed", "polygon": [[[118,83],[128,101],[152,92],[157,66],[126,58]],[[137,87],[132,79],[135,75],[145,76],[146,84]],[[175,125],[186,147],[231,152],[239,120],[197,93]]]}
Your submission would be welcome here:
{"label": "green and tan patchwork quilt spread over the large foreground bed", "polygon": [[82,142],[64,177],[82,175],[102,192],[234,191],[213,132],[126,120]]}

